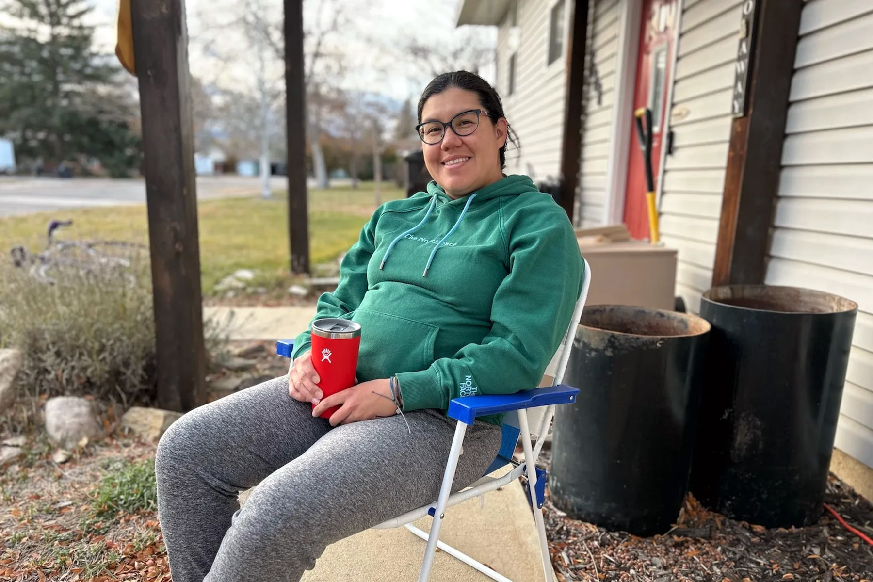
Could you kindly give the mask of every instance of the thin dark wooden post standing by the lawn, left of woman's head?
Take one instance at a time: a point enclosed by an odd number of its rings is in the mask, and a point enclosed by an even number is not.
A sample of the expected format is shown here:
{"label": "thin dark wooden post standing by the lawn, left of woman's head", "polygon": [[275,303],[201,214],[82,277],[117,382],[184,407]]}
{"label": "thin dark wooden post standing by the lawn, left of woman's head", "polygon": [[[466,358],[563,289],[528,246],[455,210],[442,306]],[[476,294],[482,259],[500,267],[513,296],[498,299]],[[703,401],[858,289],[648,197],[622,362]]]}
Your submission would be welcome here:
{"label": "thin dark wooden post standing by the lawn, left of woman's head", "polygon": [[306,85],[303,63],[303,3],[285,0],[285,118],[288,151],[288,240],[291,272],[310,272],[306,204]]}

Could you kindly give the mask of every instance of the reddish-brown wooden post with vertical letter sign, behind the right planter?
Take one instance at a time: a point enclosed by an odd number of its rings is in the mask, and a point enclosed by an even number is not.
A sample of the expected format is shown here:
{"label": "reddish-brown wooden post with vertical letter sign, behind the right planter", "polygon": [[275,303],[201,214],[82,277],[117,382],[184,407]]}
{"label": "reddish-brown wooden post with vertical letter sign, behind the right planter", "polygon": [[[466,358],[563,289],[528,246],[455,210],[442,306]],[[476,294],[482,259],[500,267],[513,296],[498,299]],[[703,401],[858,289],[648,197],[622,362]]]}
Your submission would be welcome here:
{"label": "reddish-brown wooden post with vertical letter sign, behind the right planter", "polygon": [[[756,1],[746,114],[732,122],[713,285],[764,282],[769,230],[779,190],[803,3]],[[735,98],[741,93],[735,89]],[[738,104],[742,114],[741,99]]]}

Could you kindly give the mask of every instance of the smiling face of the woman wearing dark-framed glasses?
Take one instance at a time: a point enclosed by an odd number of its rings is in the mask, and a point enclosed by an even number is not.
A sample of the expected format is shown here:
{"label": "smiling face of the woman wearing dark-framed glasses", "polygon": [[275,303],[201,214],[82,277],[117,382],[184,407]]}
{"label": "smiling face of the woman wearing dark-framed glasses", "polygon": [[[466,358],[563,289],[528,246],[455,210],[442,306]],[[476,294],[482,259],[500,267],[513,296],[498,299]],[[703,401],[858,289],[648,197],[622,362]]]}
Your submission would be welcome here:
{"label": "smiling face of the woman wearing dark-framed glasses", "polygon": [[[472,134],[460,136],[446,127],[442,141],[433,145],[422,144],[424,164],[430,176],[452,198],[470,194],[503,178],[500,148],[506,142],[506,120],[491,120],[486,114],[491,112],[485,111],[476,92],[457,87],[431,95],[422,109],[423,123],[449,123],[458,113],[471,109],[482,110],[478,127]],[[471,113],[470,118],[457,120],[462,133],[464,124],[475,123],[476,114]],[[425,139],[428,139],[427,135]]]}

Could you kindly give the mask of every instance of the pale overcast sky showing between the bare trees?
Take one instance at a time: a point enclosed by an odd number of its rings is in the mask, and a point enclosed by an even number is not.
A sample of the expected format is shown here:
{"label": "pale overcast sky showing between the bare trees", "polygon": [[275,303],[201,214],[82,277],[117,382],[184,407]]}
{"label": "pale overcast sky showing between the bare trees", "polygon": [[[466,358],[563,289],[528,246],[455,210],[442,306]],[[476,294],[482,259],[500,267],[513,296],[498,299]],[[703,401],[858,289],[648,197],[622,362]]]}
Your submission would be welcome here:
{"label": "pale overcast sky showing between the bare trees", "polygon": [[[94,23],[97,25],[96,42],[103,51],[112,52],[115,45],[115,18],[117,0],[90,0],[95,7]],[[355,0],[342,0],[354,3]],[[377,35],[382,43],[400,45],[402,38],[410,31],[422,31],[429,38],[450,39],[457,34],[455,27],[458,5],[461,0],[357,0],[364,10],[349,14],[349,24],[342,31],[341,51],[346,55],[345,65],[349,72],[340,86],[381,92],[394,99],[406,99],[409,95],[417,98],[430,75],[422,72],[416,79],[409,79],[409,71],[391,66],[391,57],[374,47],[368,36]],[[276,18],[282,18],[281,1],[265,0],[278,7]],[[191,71],[197,76],[220,77],[222,72],[202,57],[199,51],[200,24],[197,15],[215,6],[215,0],[188,0],[186,10],[189,21],[189,62]],[[313,17],[313,6],[317,0],[306,0],[304,17]],[[474,31],[493,45],[497,38],[494,27],[475,27]],[[449,42],[449,41],[447,41]],[[254,66],[254,63],[251,63]],[[493,70],[480,71],[493,82]]]}

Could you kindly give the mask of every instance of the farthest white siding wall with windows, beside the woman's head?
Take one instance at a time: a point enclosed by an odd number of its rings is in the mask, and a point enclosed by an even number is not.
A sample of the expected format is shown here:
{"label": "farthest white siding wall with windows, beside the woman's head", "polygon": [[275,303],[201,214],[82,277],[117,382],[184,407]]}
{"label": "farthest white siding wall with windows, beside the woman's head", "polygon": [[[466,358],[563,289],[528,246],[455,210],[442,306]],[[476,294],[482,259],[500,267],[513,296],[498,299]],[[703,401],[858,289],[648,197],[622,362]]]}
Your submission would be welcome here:
{"label": "farthest white siding wall with windows, beside the woman's head", "polygon": [[[512,15],[498,27],[498,92],[506,119],[519,136],[521,150],[506,152],[507,174],[526,174],[535,182],[560,178],[560,151],[564,138],[566,58],[548,65],[550,14],[554,0],[518,0],[520,42],[515,61],[515,92],[509,94],[509,35]],[[564,3],[566,5],[566,3]],[[564,20],[566,23],[566,18]],[[566,45],[567,26],[564,26]],[[520,154],[520,155],[519,155]]]}

